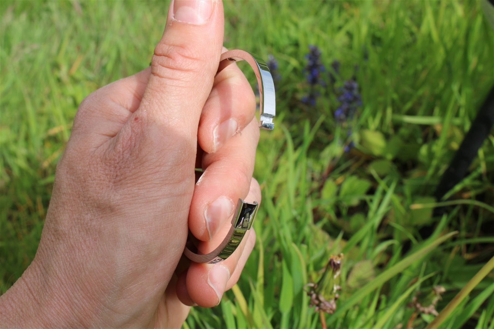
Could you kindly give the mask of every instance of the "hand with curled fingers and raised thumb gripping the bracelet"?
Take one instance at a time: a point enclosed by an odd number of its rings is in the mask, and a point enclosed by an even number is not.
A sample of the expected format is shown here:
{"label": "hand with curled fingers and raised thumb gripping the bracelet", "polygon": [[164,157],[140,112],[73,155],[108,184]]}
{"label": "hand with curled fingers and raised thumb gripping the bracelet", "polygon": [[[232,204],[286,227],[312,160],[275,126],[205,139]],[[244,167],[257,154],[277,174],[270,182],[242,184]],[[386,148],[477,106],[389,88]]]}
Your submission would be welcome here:
{"label": "hand with curled fingers and raised thumb gripping the bracelet", "polygon": [[255,98],[236,65],[215,77],[222,44],[220,1],[175,0],[151,67],[82,102],[2,326],[178,328],[236,283],[253,230],[227,260],[177,270],[188,229],[216,247],[238,198],[260,201]]}

